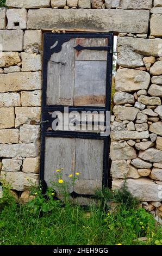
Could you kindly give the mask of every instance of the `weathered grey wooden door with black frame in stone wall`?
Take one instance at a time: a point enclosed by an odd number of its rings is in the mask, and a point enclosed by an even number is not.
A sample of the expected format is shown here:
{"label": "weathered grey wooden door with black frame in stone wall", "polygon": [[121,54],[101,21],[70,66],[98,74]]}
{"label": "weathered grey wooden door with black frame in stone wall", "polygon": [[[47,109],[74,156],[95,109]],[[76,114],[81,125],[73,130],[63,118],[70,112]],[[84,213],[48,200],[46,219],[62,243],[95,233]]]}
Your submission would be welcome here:
{"label": "weathered grey wooden door with black frame in stone wall", "polygon": [[[100,132],[110,111],[112,46],[111,33],[44,35],[40,179],[51,186],[57,169],[63,168],[64,181],[79,173],[70,187],[75,196],[93,195],[108,184],[109,136]],[[65,124],[65,107],[70,115],[78,112],[73,129]],[[90,126],[90,114],[85,120],[83,114],[88,111],[94,113]]]}

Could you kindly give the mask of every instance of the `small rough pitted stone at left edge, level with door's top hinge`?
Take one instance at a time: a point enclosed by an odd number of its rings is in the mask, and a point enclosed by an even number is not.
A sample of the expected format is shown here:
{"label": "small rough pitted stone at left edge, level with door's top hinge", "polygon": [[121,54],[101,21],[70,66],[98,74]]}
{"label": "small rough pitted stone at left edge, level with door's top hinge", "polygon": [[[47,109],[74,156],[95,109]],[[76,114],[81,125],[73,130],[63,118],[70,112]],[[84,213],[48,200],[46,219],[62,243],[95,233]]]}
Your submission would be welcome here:
{"label": "small rough pitted stone at left edge, level with door's top hinge", "polygon": [[0,58],[0,67],[9,67],[21,62],[18,52],[3,52]]}

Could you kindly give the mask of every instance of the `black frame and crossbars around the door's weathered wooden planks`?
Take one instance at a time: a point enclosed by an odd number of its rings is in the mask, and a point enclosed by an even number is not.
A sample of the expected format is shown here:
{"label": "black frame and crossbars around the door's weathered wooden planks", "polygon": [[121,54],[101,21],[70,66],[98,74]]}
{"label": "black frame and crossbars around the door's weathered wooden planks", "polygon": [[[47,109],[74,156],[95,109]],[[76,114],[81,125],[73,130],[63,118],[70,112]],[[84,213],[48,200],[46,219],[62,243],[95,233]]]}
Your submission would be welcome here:
{"label": "black frame and crossbars around the door's weathered wooden planks", "polygon": [[[44,33],[44,47],[43,47],[43,88],[42,88],[42,117],[41,117],[41,155],[40,155],[40,182],[42,184],[43,192],[46,191],[47,184],[44,180],[44,165],[45,165],[45,138],[46,137],[66,137],[66,138],[87,138],[99,139],[104,141],[103,153],[103,181],[102,185],[108,186],[108,162],[109,162],[109,147],[110,136],[101,137],[95,132],[78,132],[78,131],[47,131],[49,124],[52,124],[51,115],[48,112],[60,111],[64,112],[62,105],[47,105],[47,65],[51,55],[55,52],[60,52],[64,42],[70,41],[72,38],[108,38],[107,47],[82,47],[78,45],[76,50],[106,50],[108,51],[107,57],[107,78],[106,78],[106,95],[105,107],[86,107],[86,106],[68,106],[69,112],[71,111],[103,111],[104,114],[110,111],[111,107],[111,76],[113,67],[113,33]],[[57,46],[51,48],[58,41]],[[48,124],[46,123],[48,120]],[[81,196],[81,195],[79,195]],[[82,195],[85,196],[85,195]]]}

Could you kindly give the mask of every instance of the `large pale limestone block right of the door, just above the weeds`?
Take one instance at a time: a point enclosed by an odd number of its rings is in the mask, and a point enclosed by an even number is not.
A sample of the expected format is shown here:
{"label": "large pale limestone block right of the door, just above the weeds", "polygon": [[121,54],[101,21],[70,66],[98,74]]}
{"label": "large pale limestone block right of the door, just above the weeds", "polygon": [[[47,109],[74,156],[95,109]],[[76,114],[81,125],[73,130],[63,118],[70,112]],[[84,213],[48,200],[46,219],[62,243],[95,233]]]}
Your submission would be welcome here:
{"label": "large pale limestone block right of the door, just above the weeds", "polygon": [[[122,179],[113,180],[113,190],[119,189],[123,184]],[[153,180],[147,178],[140,179],[127,179],[128,189],[134,197],[139,198],[141,201],[161,201],[162,186],[155,184]]]}

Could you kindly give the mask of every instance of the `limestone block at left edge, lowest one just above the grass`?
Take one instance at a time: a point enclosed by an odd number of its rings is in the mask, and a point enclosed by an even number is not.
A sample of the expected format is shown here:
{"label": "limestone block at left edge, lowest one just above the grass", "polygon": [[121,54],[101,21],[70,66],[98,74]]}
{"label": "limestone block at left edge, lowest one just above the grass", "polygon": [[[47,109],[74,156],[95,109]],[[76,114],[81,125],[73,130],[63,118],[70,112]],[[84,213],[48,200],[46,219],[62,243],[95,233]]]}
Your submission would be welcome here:
{"label": "limestone block at left edge, lowest one just above the grass", "polygon": [[34,173],[23,172],[1,172],[1,180],[5,179],[9,182],[14,190],[28,190],[32,185],[39,184],[39,175]]}

